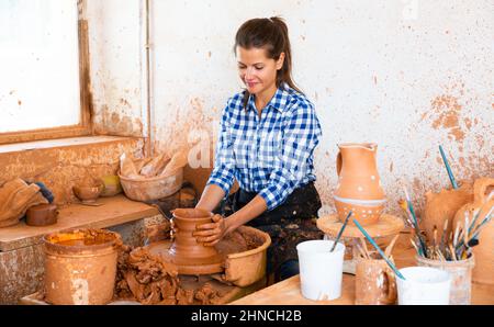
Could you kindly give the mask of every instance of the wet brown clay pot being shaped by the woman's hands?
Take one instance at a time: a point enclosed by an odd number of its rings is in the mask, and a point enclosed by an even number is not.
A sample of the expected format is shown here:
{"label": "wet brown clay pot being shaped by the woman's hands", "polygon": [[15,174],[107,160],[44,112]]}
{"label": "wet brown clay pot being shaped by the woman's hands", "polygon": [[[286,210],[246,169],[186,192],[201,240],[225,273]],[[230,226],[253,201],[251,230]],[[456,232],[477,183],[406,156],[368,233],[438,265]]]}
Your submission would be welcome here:
{"label": "wet brown clay pot being shaped by the woman's hands", "polygon": [[224,257],[215,247],[197,241],[197,226],[212,222],[213,214],[200,208],[177,208],[173,211],[176,234],[168,253],[181,274],[203,274],[223,270]]}

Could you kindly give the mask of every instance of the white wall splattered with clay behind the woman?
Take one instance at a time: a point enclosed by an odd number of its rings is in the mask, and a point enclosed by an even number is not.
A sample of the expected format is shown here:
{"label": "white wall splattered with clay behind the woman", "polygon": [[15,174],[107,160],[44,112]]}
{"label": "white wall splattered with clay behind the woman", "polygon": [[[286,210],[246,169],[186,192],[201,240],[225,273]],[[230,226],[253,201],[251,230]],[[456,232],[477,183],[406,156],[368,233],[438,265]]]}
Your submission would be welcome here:
{"label": "white wall splattered with clay behind the woman", "polygon": [[[97,121],[128,117],[142,132],[142,1],[89,1]],[[294,77],[323,126],[317,189],[332,205],[337,144],[375,142],[397,211],[398,181],[415,202],[457,179],[492,176],[493,1],[151,1],[153,134],[156,150],[213,144],[226,100],[242,87],[233,41],[255,16],[282,15]],[[124,102],[126,101],[127,104]],[[142,128],[141,128],[142,129]],[[133,133],[134,133],[133,132]],[[204,155],[204,154],[203,154]],[[206,158],[207,159],[207,158]],[[206,162],[210,159],[205,160]],[[204,182],[209,169],[189,174]],[[420,204],[420,203],[418,203]]]}

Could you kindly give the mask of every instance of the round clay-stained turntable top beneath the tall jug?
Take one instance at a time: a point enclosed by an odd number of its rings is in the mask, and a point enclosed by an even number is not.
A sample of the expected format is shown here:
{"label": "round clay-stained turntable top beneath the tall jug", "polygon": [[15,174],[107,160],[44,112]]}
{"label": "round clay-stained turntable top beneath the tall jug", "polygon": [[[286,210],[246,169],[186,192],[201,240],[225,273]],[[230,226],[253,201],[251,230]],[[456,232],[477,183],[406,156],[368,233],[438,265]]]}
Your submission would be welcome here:
{"label": "round clay-stained turntable top beneath the tall jug", "polygon": [[[336,237],[343,223],[338,219],[337,214],[323,216],[317,219],[317,228],[330,237]],[[405,224],[400,217],[382,214],[381,217],[379,217],[378,223],[362,227],[372,238],[374,238],[396,235],[405,228]],[[341,237],[360,238],[364,236],[356,225],[348,224]]]}

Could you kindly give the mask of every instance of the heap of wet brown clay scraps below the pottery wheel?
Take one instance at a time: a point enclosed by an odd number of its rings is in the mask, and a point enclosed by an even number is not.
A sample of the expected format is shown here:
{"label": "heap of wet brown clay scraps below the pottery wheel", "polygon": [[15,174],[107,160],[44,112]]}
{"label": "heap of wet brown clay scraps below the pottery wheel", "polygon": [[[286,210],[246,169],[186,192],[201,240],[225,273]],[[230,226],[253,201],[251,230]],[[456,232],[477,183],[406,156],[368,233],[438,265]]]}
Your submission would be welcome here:
{"label": "heap of wet brown clay scraps below the pottery wheel", "polygon": [[142,304],[216,304],[221,295],[209,283],[199,290],[180,285],[177,267],[146,248],[121,245],[115,297]]}

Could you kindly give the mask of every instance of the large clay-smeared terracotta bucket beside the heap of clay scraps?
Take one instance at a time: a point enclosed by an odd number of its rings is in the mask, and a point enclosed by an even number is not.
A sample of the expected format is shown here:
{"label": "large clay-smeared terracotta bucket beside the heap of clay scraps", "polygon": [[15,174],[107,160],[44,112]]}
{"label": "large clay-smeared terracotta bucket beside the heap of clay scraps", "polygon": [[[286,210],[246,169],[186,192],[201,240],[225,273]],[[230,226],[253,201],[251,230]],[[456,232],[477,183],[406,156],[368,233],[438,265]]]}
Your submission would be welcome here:
{"label": "large clay-smeared terracotta bucket beside the heap of clay scraps", "polygon": [[52,304],[106,304],[113,297],[119,235],[76,229],[43,238],[45,300]]}

